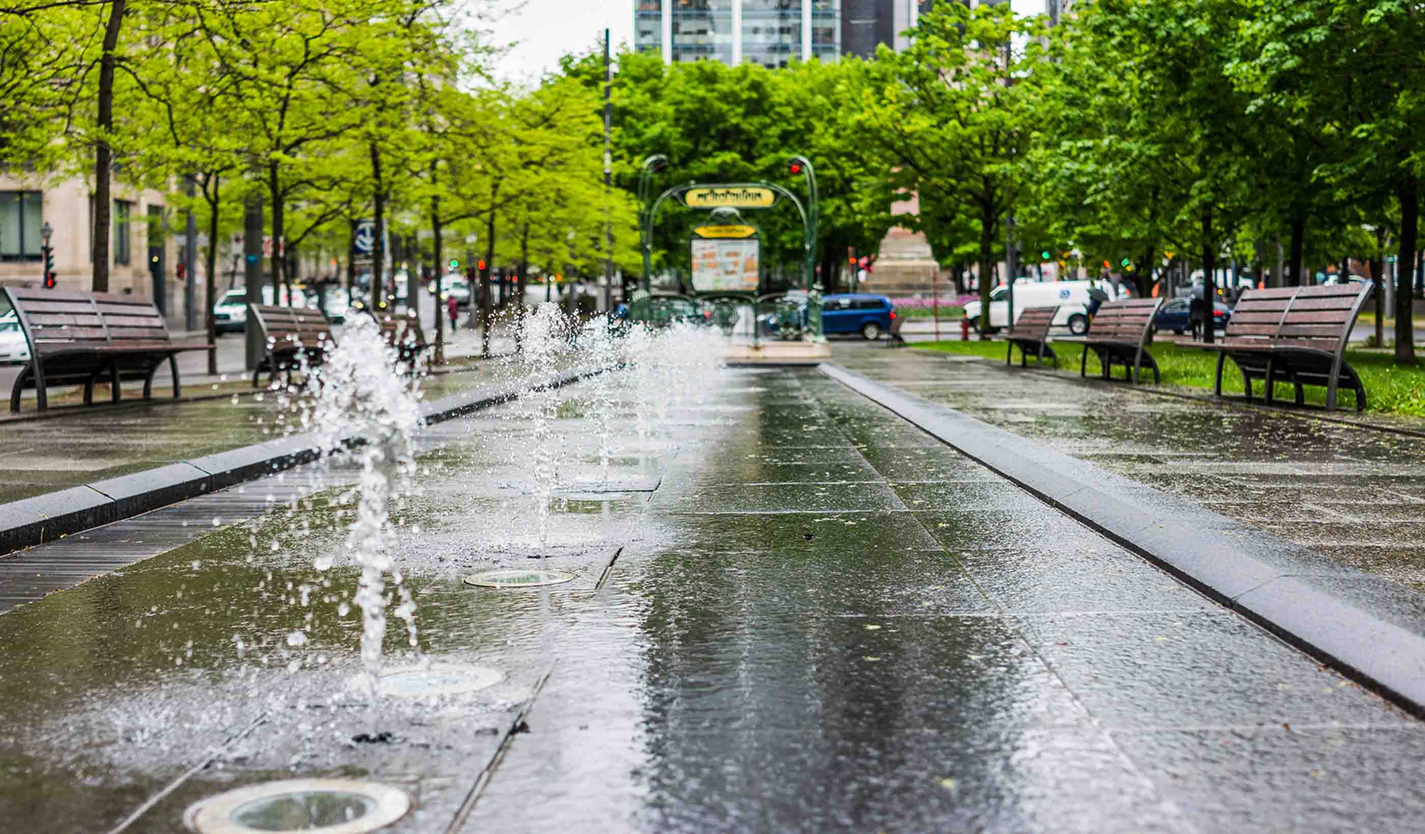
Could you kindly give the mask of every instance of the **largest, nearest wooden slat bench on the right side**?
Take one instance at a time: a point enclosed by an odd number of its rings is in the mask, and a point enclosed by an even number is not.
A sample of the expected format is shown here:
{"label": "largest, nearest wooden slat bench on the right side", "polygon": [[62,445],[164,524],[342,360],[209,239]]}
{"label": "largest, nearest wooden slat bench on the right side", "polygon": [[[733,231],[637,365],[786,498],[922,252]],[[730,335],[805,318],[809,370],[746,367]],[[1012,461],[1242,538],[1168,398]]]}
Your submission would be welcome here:
{"label": "largest, nearest wooden slat bench on the right side", "polygon": [[1190,347],[1217,352],[1217,379],[1213,390],[1223,396],[1223,370],[1227,357],[1243,374],[1247,398],[1253,398],[1253,380],[1263,380],[1265,400],[1275,401],[1275,383],[1290,383],[1297,404],[1304,404],[1304,386],[1327,390],[1327,408],[1335,408],[1342,384],[1355,391],[1355,408],[1365,408],[1365,386],[1345,361],[1345,347],[1361,306],[1372,286],[1325,285],[1247,290],[1227,323],[1223,342]]}

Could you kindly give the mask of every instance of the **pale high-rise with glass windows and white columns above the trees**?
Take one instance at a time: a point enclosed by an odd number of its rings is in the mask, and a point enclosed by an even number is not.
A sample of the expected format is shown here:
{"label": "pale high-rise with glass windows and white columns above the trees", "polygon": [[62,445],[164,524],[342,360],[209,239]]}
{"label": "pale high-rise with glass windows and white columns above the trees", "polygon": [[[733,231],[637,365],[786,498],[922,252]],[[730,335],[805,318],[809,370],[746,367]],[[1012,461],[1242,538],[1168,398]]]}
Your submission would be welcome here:
{"label": "pale high-rise with glass windows and white columns above the trees", "polygon": [[841,56],[842,0],[636,0],[634,48],[664,63],[785,67]]}

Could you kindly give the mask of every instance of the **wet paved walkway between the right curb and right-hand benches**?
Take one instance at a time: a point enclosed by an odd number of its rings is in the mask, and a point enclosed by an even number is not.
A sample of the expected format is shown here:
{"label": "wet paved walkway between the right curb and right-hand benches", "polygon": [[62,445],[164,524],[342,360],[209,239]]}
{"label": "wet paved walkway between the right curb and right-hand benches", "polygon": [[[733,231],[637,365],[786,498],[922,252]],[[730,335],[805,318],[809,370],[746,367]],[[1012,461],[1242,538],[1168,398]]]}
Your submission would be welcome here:
{"label": "wet paved walkway between the right curb and right-hand benches", "polygon": [[[1320,584],[1425,635],[1425,444],[1153,386],[1082,383],[919,350],[832,360],[1325,556]],[[1330,565],[1377,581],[1334,581]]]}

